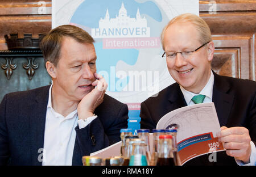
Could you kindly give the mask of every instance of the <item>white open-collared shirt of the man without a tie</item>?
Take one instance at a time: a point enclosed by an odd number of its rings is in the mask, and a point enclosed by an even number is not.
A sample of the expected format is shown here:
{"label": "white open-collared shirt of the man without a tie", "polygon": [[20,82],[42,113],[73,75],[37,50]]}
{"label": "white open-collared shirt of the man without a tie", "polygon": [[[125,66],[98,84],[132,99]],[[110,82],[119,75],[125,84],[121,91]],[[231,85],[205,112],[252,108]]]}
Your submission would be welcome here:
{"label": "white open-collared shirt of the man without a tie", "polygon": [[46,111],[46,127],[44,130],[43,166],[72,165],[73,149],[76,140],[75,127],[84,128],[97,116],[78,120],[77,109],[66,117],[52,108],[52,85]]}

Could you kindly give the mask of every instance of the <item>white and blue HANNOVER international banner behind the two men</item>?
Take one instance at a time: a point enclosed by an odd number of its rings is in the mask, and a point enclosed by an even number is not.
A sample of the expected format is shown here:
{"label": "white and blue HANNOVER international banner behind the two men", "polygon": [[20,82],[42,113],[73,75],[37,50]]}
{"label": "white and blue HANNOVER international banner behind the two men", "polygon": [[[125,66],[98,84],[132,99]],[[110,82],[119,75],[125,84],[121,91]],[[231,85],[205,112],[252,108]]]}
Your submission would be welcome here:
{"label": "white and blue HANNOVER international banner behind the two men", "polygon": [[199,15],[199,1],[53,0],[52,28],[72,24],[94,38],[106,94],[128,105],[128,126],[135,132],[140,103],[175,82],[162,58],[160,33],[170,19],[187,12]]}

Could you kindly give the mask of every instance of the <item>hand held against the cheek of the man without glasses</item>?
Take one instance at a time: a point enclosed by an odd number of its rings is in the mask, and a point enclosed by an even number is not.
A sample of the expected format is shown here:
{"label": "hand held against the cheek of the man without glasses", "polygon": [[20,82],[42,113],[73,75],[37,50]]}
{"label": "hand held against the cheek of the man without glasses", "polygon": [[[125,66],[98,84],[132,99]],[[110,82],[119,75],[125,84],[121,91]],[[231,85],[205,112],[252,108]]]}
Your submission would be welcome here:
{"label": "hand held against the cheek of the man without glasses", "polygon": [[97,73],[94,73],[96,81],[92,83],[93,88],[89,94],[85,95],[77,106],[79,119],[87,119],[93,116],[94,110],[103,102],[103,97],[108,87],[105,79]]}

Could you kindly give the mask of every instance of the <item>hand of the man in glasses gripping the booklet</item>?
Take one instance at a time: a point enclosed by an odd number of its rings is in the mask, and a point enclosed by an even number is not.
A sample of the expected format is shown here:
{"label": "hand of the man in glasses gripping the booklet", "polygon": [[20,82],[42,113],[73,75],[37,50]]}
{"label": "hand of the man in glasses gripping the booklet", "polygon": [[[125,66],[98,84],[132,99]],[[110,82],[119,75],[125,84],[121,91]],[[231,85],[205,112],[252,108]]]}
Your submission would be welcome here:
{"label": "hand of the man in glasses gripping the booklet", "polygon": [[251,155],[249,130],[245,127],[221,127],[217,133],[218,141],[224,142],[226,154],[245,163],[249,162]]}

